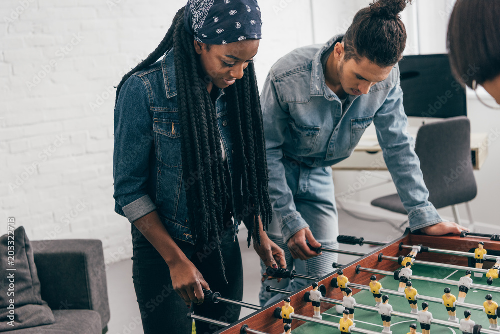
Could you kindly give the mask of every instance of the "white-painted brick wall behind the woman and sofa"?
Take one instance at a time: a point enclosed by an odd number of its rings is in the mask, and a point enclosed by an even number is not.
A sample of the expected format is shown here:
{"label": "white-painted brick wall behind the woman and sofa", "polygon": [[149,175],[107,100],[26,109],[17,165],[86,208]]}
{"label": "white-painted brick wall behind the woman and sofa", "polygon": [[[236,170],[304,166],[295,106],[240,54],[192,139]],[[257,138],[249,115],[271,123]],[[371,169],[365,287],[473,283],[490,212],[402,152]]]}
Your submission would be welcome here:
{"label": "white-painted brick wall behind the woman and sofa", "polygon": [[[2,222],[16,217],[31,239],[101,239],[108,264],[130,258],[130,224],[114,212],[112,86],[156,48],[185,3],[0,2]],[[313,41],[309,1],[259,5],[262,84],[279,57]]]}

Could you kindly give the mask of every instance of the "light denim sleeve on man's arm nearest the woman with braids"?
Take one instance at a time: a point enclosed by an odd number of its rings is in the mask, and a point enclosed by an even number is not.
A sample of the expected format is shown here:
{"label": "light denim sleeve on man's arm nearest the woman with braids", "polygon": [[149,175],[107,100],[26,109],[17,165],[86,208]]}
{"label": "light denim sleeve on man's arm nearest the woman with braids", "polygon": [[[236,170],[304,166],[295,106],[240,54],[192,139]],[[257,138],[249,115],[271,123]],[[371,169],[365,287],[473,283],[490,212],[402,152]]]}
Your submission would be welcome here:
{"label": "light denim sleeve on man's arm nearest the woman with braids", "polygon": [[269,198],[272,213],[280,222],[285,242],[299,230],[309,227],[297,211],[293,193],[286,182],[285,167],[282,162],[282,145],[290,117],[288,107],[280,103],[280,98],[272,80],[272,70],[265,80],[260,97],[265,132],[267,168],[269,170]]}

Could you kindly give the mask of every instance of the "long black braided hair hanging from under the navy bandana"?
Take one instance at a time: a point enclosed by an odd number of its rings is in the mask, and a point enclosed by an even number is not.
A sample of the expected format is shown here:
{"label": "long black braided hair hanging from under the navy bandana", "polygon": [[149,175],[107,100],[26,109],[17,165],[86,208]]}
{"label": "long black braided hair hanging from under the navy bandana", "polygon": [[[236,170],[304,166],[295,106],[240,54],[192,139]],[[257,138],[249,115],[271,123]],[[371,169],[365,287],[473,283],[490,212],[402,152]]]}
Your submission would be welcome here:
{"label": "long black braided hair hanging from under the navy bandana", "polygon": [[[121,86],[132,74],[174,48],[184,183],[187,184],[189,176],[196,175],[196,182],[186,187],[189,219],[198,241],[215,240],[220,245],[228,185],[224,178],[216,110],[194,50],[194,38],[184,29],[184,9],[177,12],[158,47],[123,77],[117,86],[116,102]],[[247,226],[250,246],[254,229],[255,241],[260,243],[258,216],[264,230],[272,218],[262,112],[252,63],[244,70],[243,77],[227,87],[225,93],[229,120],[233,125],[233,182],[236,182],[233,189],[241,189],[243,194],[242,202],[235,203],[237,212],[234,215],[239,214],[234,218]],[[225,277],[220,247],[217,249]]]}

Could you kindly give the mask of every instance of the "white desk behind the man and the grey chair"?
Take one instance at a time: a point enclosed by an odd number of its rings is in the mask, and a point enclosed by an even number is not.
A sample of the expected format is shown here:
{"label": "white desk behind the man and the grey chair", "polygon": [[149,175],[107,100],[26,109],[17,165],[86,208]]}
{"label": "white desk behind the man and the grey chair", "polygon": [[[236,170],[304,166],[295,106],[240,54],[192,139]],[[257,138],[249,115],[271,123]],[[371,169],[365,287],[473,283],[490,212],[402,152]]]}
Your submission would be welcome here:
{"label": "white desk behind the man and the grey chair", "polygon": [[[416,138],[416,134],[411,132],[410,134]],[[479,170],[488,156],[488,134],[472,133],[470,150],[472,165],[474,169]],[[387,170],[376,135],[363,135],[352,155],[331,168],[334,170]]]}

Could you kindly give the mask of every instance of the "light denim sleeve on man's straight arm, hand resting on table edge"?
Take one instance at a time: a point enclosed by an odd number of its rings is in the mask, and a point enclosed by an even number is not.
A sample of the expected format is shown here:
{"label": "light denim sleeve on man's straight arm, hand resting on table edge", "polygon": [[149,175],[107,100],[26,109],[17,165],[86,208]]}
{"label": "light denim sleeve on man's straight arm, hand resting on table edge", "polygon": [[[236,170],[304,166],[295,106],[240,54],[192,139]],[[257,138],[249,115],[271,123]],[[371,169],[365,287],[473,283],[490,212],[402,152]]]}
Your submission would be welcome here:
{"label": "light denim sleeve on man's straight arm, hand resting on table edge", "polygon": [[413,138],[406,131],[408,119],[402,102],[403,92],[397,79],[384,104],[375,113],[373,123],[385,164],[408,211],[409,226],[411,231],[415,231],[442,222],[443,219],[428,201],[429,191],[423,180]]}

